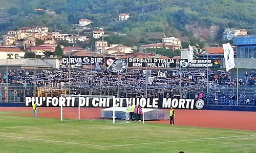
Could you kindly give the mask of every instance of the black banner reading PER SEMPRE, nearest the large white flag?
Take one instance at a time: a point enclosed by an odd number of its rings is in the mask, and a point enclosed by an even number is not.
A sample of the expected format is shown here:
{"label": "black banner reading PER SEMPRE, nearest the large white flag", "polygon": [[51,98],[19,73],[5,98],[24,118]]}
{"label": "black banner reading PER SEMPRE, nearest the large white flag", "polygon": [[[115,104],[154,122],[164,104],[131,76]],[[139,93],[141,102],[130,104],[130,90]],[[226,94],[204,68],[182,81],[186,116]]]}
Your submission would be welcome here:
{"label": "black banner reading PER SEMPRE, nearest the large white flag", "polygon": [[220,68],[221,59],[193,59],[188,63],[187,59],[181,60],[181,68]]}

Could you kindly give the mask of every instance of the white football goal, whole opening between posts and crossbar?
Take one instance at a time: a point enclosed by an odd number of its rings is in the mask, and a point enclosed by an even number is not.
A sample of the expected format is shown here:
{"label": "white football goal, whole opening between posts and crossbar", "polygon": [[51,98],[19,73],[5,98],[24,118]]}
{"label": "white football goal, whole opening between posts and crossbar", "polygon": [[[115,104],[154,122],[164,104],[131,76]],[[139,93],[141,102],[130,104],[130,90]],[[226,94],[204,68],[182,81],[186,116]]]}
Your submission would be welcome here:
{"label": "white football goal, whole opening between posts and crossbar", "polygon": [[[61,95],[66,98],[67,103],[60,106],[60,120],[78,119],[112,119],[115,123],[115,96],[101,95]],[[115,103],[115,102],[114,102]],[[111,115],[105,117],[106,108],[112,108]]]}

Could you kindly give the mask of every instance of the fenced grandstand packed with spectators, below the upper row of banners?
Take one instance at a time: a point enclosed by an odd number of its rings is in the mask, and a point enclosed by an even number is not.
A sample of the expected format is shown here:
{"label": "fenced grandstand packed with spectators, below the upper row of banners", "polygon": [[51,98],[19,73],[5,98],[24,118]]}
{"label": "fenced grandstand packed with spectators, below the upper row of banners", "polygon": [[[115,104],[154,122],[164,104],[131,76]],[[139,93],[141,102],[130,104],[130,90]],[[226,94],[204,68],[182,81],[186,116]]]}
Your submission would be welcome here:
{"label": "fenced grandstand packed with spectators, below the upper row of banners", "polygon": [[[23,70],[20,70],[23,71]],[[145,74],[143,70],[128,70],[125,75],[119,76],[120,85],[118,86],[118,74],[103,70],[41,70],[36,72],[24,71],[24,76],[18,76],[19,70],[10,70],[13,77],[9,77],[8,102],[24,102],[24,97],[34,96],[34,86],[36,85],[36,96],[44,95],[38,92],[39,89],[48,89],[48,94],[58,96],[56,90],[61,89],[61,93],[73,95],[113,95],[121,98],[139,97],[145,95]],[[243,73],[239,78],[239,103],[237,104],[236,78],[232,73],[222,70],[209,70],[207,82],[207,71],[198,70],[166,70],[166,78],[159,77],[160,70],[152,70],[151,76],[154,77],[152,84],[147,83],[148,98],[173,98],[183,97],[197,99],[203,91],[203,99],[206,105],[229,105],[229,106],[256,106],[255,80],[246,81]],[[26,73],[28,74],[26,76]],[[181,75],[181,86],[179,86],[179,76]],[[248,75],[255,75],[249,72]],[[70,77],[69,77],[70,76]],[[5,80],[0,86],[2,93],[6,90]],[[209,93],[207,94],[207,83]],[[182,95],[180,95],[180,90]],[[49,95],[49,96],[53,96]],[[46,96],[46,94],[44,95]],[[249,99],[249,100],[248,100]],[[6,98],[1,99],[7,101]]]}

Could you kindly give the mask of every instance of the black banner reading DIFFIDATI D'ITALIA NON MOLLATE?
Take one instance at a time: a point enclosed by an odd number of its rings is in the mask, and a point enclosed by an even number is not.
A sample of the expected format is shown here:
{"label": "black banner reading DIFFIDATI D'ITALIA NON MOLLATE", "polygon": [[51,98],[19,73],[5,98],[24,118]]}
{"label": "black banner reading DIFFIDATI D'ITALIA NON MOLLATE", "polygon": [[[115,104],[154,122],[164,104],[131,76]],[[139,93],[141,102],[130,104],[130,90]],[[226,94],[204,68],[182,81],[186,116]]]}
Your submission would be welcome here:
{"label": "black banner reading DIFFIDATI D'ITALIA NON MOLLATE", "polygon": [[129,58],[128,67],[176,68],[176,59]]}

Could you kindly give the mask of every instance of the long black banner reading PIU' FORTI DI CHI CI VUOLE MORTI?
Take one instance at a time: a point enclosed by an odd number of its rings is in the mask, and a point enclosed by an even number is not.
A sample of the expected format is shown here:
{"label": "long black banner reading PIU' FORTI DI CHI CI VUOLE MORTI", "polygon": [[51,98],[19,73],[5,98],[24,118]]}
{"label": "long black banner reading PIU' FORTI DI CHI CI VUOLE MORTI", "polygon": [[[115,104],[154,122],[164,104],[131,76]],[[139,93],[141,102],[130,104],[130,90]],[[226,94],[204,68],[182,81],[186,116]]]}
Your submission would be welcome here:
{"label": "long black banner reading PIU' FORTI DI CHI CI VUOLE MORTI", "polygon": [[[166,96],[167,97],[167,96]],[[36,102],[38,106],[43,107],[112,107],[113,101],[116,107],[126,107],[133,103],[144,108],[174,108],[201,110],[204,107],[204,101],[199,99],[183,98],[102,98],[102,97],[25,97],[26,106],[32,106]]]}

